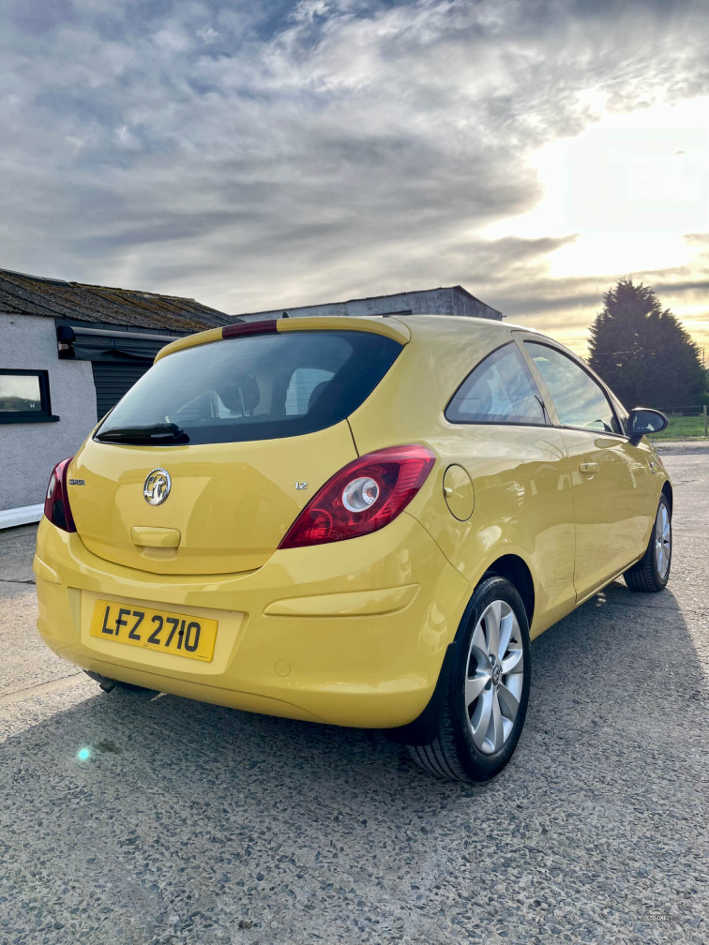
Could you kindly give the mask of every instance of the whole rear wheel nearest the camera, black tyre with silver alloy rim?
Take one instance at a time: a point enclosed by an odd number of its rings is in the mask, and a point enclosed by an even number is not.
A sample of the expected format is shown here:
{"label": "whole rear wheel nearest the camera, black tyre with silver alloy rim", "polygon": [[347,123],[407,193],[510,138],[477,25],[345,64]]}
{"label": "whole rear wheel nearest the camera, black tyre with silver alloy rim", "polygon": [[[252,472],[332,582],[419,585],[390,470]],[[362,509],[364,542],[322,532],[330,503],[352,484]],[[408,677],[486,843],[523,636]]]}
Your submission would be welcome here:
{"label": "whole rear wheel nearest the camera, black tyre with silver alloy rim", "polygon": [[455,645],[438,734],[407,750],[440,778],[489,781],[510,761],[529,699],[527,612],[509,580],[480,581]]}

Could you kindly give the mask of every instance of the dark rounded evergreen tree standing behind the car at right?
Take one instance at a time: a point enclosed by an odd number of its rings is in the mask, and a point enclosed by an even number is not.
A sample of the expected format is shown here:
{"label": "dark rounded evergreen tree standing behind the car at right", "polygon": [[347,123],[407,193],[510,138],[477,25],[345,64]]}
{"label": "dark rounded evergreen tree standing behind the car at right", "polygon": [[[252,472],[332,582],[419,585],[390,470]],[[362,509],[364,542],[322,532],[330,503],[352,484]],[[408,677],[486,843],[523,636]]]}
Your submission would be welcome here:
{"label": "dark rounded evergreen tree standing behind the car at right", "polygon": [[621,279],[591,326],[591,367],[628,409],[701,404],[700,351],[654,291]]}

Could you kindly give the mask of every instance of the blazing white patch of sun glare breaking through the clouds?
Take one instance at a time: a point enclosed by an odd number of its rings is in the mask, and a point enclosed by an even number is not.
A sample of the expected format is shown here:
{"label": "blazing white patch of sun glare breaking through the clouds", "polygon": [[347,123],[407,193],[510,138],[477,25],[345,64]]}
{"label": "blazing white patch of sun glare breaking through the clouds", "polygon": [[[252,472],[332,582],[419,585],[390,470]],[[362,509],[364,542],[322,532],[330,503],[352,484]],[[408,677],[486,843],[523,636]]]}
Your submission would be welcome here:
{"label": "blazing white patch of sun glare breaking through the clouds", "polygon": [[605,114],[537,153],[544,197],[486,234],[576,234],[549,257],[553,278],[684,266],[684,234],[709,229],[708,143],[709,97]]}

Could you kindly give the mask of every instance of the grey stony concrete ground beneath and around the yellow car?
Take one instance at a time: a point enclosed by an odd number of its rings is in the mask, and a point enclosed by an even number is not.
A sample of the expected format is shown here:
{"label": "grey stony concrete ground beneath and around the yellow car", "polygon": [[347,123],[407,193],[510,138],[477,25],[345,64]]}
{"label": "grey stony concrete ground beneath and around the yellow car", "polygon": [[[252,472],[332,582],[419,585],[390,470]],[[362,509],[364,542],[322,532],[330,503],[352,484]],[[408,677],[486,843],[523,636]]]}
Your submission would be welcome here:
{"label": "grey stony concrete ground beneath and around the yellow car", "polygon": [[477,787],[378,733],[100,693],[37,639],[34,528],[2,533],[2,945],[707,942],[709,452],[662,450],[669,588],[532,644]]}

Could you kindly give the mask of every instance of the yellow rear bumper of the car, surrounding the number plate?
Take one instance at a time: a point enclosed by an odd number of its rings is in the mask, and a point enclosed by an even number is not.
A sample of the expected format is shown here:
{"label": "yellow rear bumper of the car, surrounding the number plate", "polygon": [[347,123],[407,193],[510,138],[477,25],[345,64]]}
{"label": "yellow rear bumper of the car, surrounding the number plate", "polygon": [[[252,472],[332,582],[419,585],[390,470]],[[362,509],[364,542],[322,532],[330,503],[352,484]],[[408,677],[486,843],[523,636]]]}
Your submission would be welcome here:
{"label": "yellow rear bumper of the car, surrounding the number plate", "polygon": [[[233,576],[113,564],[43,519],[34,570],[40,634],[83,669],[249,712],[362,728],[406,725],[424,710],[471,593],[406,512],[372,535],[277,551]],[[212,662],[90,636],[99,597],[216,619]]]}

